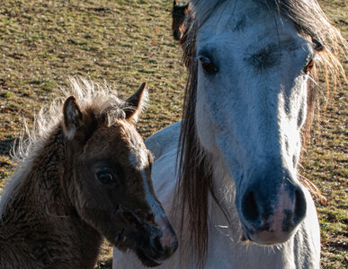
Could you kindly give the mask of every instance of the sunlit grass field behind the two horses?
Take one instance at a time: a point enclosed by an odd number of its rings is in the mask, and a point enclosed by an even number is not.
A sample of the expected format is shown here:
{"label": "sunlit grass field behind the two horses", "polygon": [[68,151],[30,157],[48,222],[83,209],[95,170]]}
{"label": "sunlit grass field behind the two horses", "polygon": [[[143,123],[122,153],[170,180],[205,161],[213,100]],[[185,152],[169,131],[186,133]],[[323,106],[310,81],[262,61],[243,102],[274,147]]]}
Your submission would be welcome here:
{"label": "sunlit grass field behind the two horses", "polygon": [[[346,0],[320,1],[348,36]],[[186,70],[171,35],[171,1],[3,0],[0,5],[0,193],[11,175],[9,151],[42,104],[69,75],[104,80],[128,96],[147,81],[145,137],[181,118]],[[347,70],[348,63],[344,61]],[[326,196],[317,202],[322,267],[348,267],[348,87],[332,93],[314,124],[301,173]],[[323,92],[322,104],[324,104]],[[320,106],[320,107],[325,107]],[[322,109],[323,110],[323,109]],[[111,265],[104,244],[99,267]]]}

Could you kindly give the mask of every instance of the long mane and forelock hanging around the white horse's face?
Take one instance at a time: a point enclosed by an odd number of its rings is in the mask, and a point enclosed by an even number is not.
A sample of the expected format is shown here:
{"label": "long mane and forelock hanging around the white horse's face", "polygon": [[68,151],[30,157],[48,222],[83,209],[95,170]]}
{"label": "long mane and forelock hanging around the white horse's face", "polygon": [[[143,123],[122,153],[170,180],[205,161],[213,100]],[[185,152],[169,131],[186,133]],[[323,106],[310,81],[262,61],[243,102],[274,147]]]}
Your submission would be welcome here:
{"label": "long mane and forelock hanging around the white horse's face", "polygon": [[[197,265],[204,265],[208,250],[208,209],[209,195],[219,205],[227,216],[226,209],[214,191],[209,157],[201,149],[195,126],[195,102],[197,94],[197,61],[196,38],[201,25],[209,18],[210,13],[222,2],[236,0],[192,0],[192,11],[186,17],[183,38],[183,63],[189,70],[183,105],[183,123],[180,134],[179,183],[176,188],[176,206],[180,208],[183,219],[188,218],[192,254],[197,259]],[[344,55],[347,42],[339,30],[333,27],[326,18],[316,0],[259,0],[269,8],[290,18],[304,38],[313,40],[324,46],[324,50],[317,53],[317,68],[312,70],[308,83],[308,117],[302,129],[302,140],[306,143],[310,126],[316,112],[317,103],[317,71],[326,77],[327,93],[329,79],[336,85],[340,74],[344,76],[344,68],[338,56]],[[317,69],[317,70],[316,70]],[[331,74],[331,75],[330,75]],[[345,76],[344,76],[345,78]],[[308,183],[310,187],[310,183]],[[308,187],[307,185],[307,187]],[[228,220],[229,221],[229,220]],[[182,229],[183,230],[183,229]],[[193,248],[195,247],[195,249]]]}

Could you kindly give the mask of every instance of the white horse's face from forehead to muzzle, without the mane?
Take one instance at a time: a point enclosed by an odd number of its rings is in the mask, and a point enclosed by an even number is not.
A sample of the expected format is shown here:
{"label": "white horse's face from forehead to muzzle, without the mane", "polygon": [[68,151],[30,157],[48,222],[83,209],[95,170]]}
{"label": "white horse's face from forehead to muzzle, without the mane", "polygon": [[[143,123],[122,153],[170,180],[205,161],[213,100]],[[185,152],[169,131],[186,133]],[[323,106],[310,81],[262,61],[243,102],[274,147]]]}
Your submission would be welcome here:
{"label": "white horse's face from forehead to muzzle, without the mane", "polygon": [[[313,52],[278,14],[260,6],[247,19],[249,4],[220,4],[215,12],[222,15],[201,26],[197,58],[209,57],[219,72],[207,74],[199,65],[195,118],[202,148],[225,162],[236,181],[246,236],[275,244],[289,239],[306,214],[296,167],[307,101],[302,70]],[[243,31],[236,30],[235,9],[246,18]]]}

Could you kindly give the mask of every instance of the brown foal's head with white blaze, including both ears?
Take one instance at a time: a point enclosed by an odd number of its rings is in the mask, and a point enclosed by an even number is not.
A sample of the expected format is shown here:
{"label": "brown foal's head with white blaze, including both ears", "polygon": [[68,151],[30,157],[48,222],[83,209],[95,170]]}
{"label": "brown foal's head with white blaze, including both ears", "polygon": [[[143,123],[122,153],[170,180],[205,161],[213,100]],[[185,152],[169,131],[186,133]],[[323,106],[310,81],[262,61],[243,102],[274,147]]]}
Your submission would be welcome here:
{"label": "brown foal's head with white blaze, including both ears", "polygon": [[63,180],[83,221],[155,266],[174,253],[177,240],[154,193],[151,153],[134,125],[146,95],[143,83],[125,102],[106,95],[80,107],[75,97],[67,98]]}

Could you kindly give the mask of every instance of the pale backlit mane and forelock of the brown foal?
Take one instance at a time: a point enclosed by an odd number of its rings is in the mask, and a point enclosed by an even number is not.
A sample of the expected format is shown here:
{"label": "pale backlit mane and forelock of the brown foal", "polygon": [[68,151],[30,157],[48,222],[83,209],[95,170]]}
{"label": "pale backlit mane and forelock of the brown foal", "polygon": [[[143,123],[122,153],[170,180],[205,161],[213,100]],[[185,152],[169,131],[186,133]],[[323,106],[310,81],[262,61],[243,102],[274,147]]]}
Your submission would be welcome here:
{"label": "pale backlit mane and forelock of the brown foal", "polygon": [[[8,178],[4,193],[0,194],[0,221],[4,208],[10,202],[13,192],[18,189],[22,178],[31,170],[32,161],[43,149],[44,142],[52,132],[63,122],[63,103],[69,96],[75,96],[82,111],[92,109],[95,117],[105,117],[111,126],[116,119],[125,118],[125,108],[129,108],[126,101],[121,100],[115,89],[106,83],[97,84],[83,78],[69,79],[69,87],[60,89],[60,96],[49,106],[40,108],[34,118],[31,129],[24,122],[24,130],[17,143],[13,144],[13,159],[18,162],[12,177]],[[1,224],[1,222],[0,222]]]}

